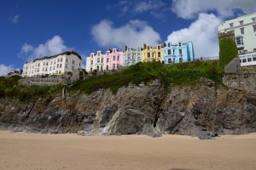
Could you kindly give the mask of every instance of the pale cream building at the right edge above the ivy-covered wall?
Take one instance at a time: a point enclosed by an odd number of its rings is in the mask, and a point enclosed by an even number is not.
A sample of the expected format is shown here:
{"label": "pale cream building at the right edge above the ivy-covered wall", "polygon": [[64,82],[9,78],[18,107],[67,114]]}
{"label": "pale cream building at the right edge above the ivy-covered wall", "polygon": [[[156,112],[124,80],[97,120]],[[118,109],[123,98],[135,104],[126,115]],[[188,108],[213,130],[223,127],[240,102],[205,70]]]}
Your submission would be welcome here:
{"label": "pale cream building at the right edge above the ivy-covered wall", "polygon": [[256,13],[227,20],[218,26],[219,33],[227,33],[229,31],[235,31],[239,54],[256,51]]}

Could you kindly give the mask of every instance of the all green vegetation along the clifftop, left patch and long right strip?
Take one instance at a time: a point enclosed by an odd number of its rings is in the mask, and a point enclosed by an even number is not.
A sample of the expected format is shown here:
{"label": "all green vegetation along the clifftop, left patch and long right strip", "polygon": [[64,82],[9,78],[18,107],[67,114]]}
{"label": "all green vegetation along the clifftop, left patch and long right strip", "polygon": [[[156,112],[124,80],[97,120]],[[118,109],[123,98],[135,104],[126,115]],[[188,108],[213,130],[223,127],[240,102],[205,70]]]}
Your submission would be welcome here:
{"label": "all green vegetation along the clifftop, left patch and long right strip", "polygon": [[[71,90],[90,94],[100,88],[110,88],[116,93],[119,88],[128,86],[130,82],[139,84],[147,83],[154,79],[160,79],[163,86],[168,88],[170,84],[191,85],[201,77],[212,79],[216,84],[221,83],[223,70],[218,62],[195,61],[173,65],[162,65],[160,62],[137,63],[121,73],[91,77],[76,82]],[[39,97],[61,92],[63,85],[57,86],[31,86],[24,87],[18,83],[19,77],[0,77],[0,98],[17,98],[20,101],[34,101]]]}

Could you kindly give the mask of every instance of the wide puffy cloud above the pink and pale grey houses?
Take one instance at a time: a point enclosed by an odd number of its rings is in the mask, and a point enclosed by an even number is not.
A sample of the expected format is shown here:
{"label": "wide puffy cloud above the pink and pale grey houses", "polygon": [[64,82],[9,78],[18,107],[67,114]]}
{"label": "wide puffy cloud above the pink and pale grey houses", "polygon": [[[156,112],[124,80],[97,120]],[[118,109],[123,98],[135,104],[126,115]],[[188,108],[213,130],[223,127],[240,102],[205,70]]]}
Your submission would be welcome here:
{"label": "wide puffy cloud above the pink and pale grey houses", "polygon": [[114,27],[109,20],[102,20],[92,26],[91,34],[98,45],[105,48],[123,48],[125,45],[137,47],[144,42],[152,45],[160,42],[160,34],[141,20],[130,20],[120,27]]}

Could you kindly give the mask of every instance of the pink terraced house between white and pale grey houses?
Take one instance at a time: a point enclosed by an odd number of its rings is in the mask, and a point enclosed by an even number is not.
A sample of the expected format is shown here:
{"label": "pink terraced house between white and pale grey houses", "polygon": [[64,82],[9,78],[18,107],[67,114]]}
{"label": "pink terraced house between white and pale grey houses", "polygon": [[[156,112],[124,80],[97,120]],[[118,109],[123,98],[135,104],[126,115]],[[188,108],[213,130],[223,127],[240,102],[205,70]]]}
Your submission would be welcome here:
{"label": "pink terraced house between white and pale grey houses", "polygon": [[118,69],[123,65],[123,52],[116,48],[109,49],[106,53],[106,59],[104,59],[104,70]]}

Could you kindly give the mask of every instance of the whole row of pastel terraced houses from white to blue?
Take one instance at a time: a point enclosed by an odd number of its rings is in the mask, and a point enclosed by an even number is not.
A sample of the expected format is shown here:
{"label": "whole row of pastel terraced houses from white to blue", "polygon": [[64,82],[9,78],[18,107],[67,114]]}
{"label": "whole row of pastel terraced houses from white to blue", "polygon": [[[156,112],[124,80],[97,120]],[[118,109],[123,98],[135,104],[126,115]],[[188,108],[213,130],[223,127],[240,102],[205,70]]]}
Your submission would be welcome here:
{"label": "whole row of pastel terraced houses from white to blue", "polygon": [[192,42],[163,42],[152,47],[144,44],[143,48],[125,46],[124,51],[117,48],[91,53],[86,58],[86,71],[108,71],[119,69],[120,66],[135,65],[137,62],[160,61],[164,64],[189,62],[195,59]]}

